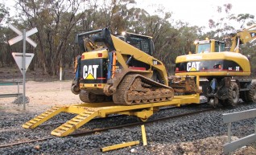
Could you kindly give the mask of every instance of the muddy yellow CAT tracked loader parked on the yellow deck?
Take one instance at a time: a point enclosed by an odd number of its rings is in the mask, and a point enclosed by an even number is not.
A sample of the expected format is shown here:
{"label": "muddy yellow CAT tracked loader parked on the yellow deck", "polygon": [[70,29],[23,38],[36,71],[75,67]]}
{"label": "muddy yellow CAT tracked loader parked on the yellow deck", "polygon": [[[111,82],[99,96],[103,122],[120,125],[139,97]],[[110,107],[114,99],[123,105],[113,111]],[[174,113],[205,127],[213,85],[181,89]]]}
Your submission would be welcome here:
{"label": "muddy yellow CAT tracked loader parked on the yellow deck", "polygon": [[172,99],[166,68],[152,57],[151,37],[128,32],[111,35],[103,28],[76,35],[76,43],[82,55],[76,57],[71,90],[83,102],[142,104],[155,101],[142,96],[156,92],[163,100]]}

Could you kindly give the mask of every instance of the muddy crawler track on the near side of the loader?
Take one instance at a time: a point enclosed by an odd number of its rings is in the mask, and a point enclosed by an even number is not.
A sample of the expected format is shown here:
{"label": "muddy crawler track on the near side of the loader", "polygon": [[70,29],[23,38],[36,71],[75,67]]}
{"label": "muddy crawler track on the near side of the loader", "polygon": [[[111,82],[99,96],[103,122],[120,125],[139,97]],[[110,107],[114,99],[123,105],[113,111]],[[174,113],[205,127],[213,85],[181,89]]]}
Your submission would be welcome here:
{"label": "muddy crawler track on the near side of the loader", "polygon": [[147,79],[142,75],[126,75],[113,94],[114,104],[145,104],[172,100],[172,88]]}

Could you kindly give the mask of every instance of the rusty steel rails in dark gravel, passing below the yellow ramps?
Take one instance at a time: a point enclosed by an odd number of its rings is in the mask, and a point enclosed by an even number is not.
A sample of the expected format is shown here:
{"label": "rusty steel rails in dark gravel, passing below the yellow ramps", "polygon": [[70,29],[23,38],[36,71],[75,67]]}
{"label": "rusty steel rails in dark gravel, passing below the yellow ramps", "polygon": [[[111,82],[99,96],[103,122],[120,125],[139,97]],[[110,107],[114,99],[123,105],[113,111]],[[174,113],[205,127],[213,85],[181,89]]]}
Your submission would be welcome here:
{"label": "rusty steel rails in dark gravel, passing below the yellow ramps", "polygon": [[[68,137],[82,137],[82,136],[92,134],[92,133],[96,133],[96,132],[97,133],[104,132],[104,131],[107,131],[109,129],[127,128],[127,127],[136,126],[136,125],[151,124],[151,123],[158,122],[158,121],[163,121],[163,120],[168,120],[168,119],[183,117],[183,116],[191,116],[191,115],[196,115],[196,114],[201,113],[201,112],[209,112],[209,111],[213,111],[213,110],[216,110],[216,108],[206,108],[204,110],[198,110],[198,111],[195,111],[195,112],[185,112],[183,114],[178,114],[178,115],[174,115],[174,116],[166,116],[166,117],[158,118],[158,119],[155,119],[155,120],[148,120],[146,122],[136,122],[136,123],[131,123],[131,124],[122,124],[122,125],[109,127],[109,128],[97,128],[97,129],[93,129],[93,130],[89,130],[89,131],[81,131],[79,133],[72,133]],[[60,123],[55,123],[55,124],[60,124]],[[50,124],[44,124],[44,126],[45,125],[50,125]],[[38,139],[35,139],[35,140],[10,143],[10,144],[6,144],[6,145],[0,145],[0,149],[1,148],[12,147],[14,145],[24,145],[24,144],[27,144],[27,143],[47,141],[47,140],[51,140],[51,139],[55,139],[55,138],[58,138],[58,137],[43,137],[43,138],[38,138]]]}

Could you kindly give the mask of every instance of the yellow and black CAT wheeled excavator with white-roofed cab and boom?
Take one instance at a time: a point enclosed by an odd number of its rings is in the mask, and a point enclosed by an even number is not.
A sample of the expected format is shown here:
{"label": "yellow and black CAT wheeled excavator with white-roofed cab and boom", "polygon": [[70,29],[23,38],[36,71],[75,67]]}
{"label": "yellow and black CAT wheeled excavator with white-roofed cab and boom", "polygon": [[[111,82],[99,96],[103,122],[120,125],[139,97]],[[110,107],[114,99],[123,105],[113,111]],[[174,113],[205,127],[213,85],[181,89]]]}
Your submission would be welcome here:
{"label": "yellow and black CAT wheeled excavator with white-roofed cab and boom", "polygon": [[200,86],[209,104],[235,106],[239,98],[256,102],[256,83],[242,79],[250,75],[250,62],[240,53],[240,45],[256,39],[256,25],[225,36],[223,42],[196,41],[196,54],[175,60],[175,75],[199,75]]}

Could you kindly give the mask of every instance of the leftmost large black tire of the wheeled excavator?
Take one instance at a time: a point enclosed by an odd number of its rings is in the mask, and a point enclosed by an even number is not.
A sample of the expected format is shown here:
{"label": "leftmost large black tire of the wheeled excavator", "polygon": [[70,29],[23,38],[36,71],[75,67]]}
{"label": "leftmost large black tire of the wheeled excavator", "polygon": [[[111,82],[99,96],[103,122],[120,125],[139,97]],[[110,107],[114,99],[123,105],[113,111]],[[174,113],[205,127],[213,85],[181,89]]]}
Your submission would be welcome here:
{"label": "leftmost large black tire of the wheeled excavator", "polygon": [[234,107],[237,105],[237,103],[239,101],[239,87],[238,87],[237,83],[232,82],[230,84],[228,92],[229,93],[228,93],[227,104]]}

